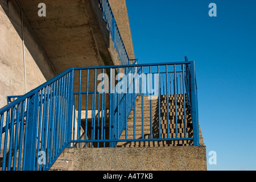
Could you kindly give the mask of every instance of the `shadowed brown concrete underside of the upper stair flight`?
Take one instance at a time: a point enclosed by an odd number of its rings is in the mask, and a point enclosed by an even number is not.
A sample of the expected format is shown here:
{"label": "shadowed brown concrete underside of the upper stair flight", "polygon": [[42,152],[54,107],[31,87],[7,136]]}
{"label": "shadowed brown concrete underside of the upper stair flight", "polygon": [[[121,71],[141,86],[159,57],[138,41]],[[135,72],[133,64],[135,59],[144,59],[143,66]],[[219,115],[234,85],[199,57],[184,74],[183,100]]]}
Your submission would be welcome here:
{"label": "shadowed brown concrete underside of the upper stair flight", "polygon": [[[106,22],[102,19],[98,1],[17,1],[57,75],[71,67],[120,64],[110,33],[106,28]],[[46,16],[38,15],[39,3],[46,5]],[[97,71],[97,75],[100,73],[100,70]],[[75,92],[78,92],[79,75],[77,73],[75,78]],[[82,72],[82,81],[86,81],[86,72]],[[86,82],[82,82],[81,91],[86,91]],[[89,75],[89,91],[94,91],[94,71]],[[108,100],[109,96],[106,97]],[[89,108],[92,108],[92,103],[88,103]],[[82,104],[82,110],[85,110],[85,102]]]}

